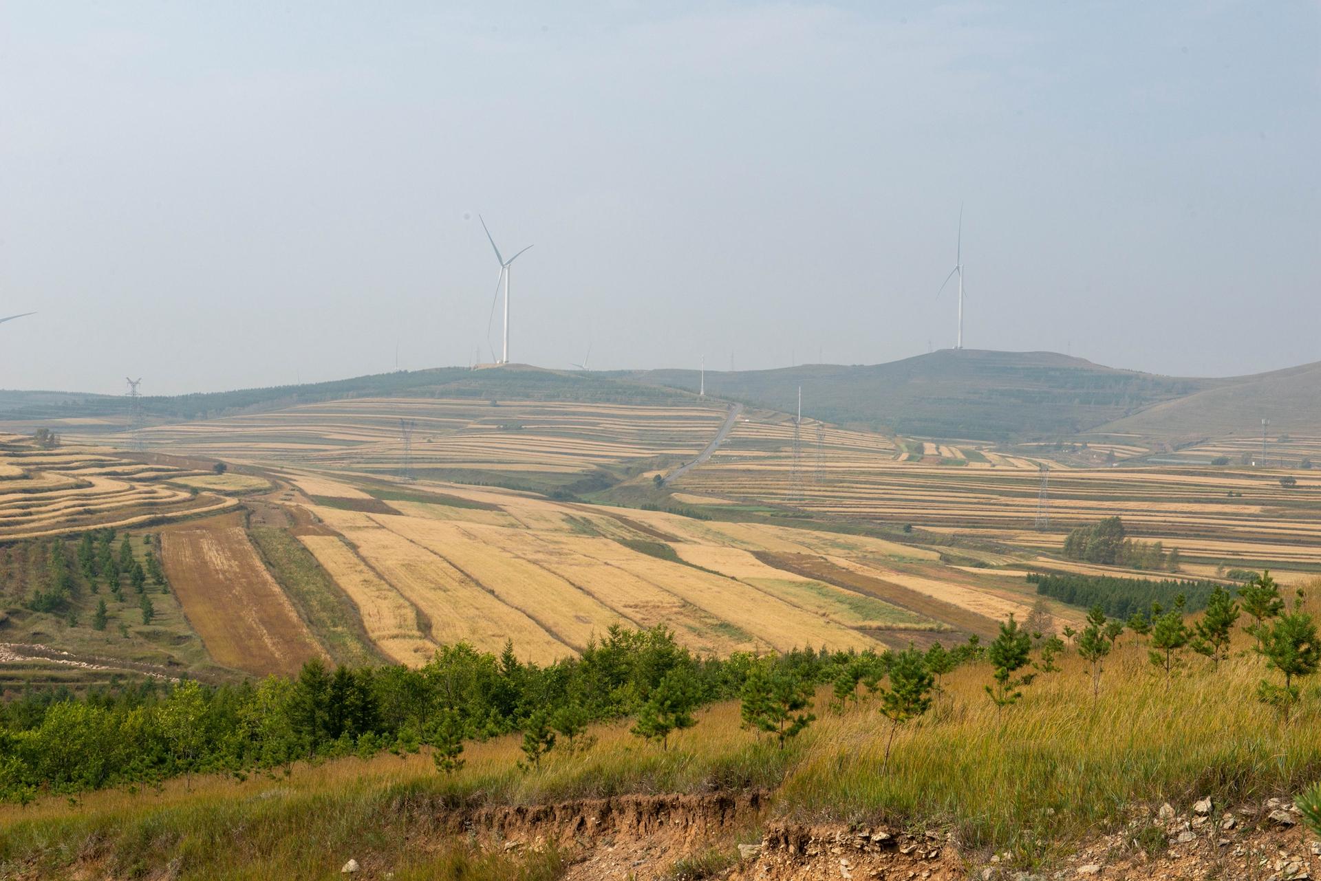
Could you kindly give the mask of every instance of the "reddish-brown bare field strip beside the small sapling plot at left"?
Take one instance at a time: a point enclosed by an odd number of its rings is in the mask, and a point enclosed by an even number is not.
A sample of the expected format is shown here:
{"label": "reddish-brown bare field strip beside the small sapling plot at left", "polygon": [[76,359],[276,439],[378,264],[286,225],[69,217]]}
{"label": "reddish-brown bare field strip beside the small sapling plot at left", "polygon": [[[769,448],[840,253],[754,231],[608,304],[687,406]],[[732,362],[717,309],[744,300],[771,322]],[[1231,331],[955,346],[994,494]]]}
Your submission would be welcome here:
{"label": "reddish-brown bare field strip beside the small sapling plot at left", "polygon": [[161,534],[165,573],[193,629],[221,666],[295,675],[325,656],[239,526]]}

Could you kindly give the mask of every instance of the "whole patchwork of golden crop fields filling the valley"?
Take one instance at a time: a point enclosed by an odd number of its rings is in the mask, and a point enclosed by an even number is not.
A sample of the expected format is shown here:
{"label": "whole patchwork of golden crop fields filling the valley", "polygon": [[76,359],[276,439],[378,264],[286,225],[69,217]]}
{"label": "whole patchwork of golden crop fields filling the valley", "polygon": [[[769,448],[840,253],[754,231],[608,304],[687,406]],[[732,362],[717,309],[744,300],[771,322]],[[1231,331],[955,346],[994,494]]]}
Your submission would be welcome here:
{"label": "whole patchwork of golden crop fields filling the valley", "polygon": [[[415,425],[407,461],[400,419]],[[1026,572],[1114,572],[1058,556],[1070,528],[1112,514],[1178,547],[1189,573],[1284,565],[1288,580],[1321,565],[1321,473],[1305,470],[1287,487],[1281,472],[1244,466],[1069,468],[1052,445],[795,427],[752,409],[708,462],[653,486],[723,420],[713,402],[355,399],[156,427],[136,456],[13,439],[0,461],[0,538],[201,518],[169,530],[166,565],[217,663],[248,672],[325,655],[318,602],[347,616],[336,626],[408,664],[460,641],[487,651],[513,641],[548,662],[614,625],[666,626],[711,654],[991,635],[1034,612]],[[1111,439],[1090,449],[1122,460],[1144,448]],[[215,460],[260,477],[205,473]],[[620,498],[659,505],[556,494],[602,469],[633,493]],[[238,507],[283,523],[304,559],[277,568],[240,552],[231,520],[206,519]],[[905,538],[905,524],[919,531]],[[291,579],[305,582],[293,590]],[[1054,602],[1036,613],[1079,616]]]}

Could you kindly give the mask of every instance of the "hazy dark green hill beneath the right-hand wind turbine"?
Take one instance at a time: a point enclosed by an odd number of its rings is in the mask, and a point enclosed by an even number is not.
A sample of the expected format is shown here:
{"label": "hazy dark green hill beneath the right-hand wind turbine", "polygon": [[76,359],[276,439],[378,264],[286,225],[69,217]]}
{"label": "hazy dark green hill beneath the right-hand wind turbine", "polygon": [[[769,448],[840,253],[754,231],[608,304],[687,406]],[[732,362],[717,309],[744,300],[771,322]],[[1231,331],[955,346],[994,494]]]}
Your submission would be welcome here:
{"label": "hazy dark green hill beneath the right-hand wind turbine", "polygon": [[[694,370],[612,374],[696,391]],[[942,350],[885,365],[707,372],[707,392],[904,435],[1008,440],[1071,435],[1226,380],[1116,370],[1049,351]]]}

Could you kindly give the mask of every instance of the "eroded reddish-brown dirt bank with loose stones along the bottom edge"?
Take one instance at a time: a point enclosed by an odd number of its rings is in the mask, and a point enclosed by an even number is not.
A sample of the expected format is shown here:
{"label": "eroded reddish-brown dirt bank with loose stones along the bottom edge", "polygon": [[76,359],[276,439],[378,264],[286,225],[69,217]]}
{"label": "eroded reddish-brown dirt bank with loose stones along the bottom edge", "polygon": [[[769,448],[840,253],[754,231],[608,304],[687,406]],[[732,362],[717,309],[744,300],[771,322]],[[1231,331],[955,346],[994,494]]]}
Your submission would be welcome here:
{"label": "eroded reddish-brown dirt bank with loose stones along the bottom edge", "polygon": [[941,829],[783,823],[769,808],[769,796],[756,793],[627,795],[481,807],[450,820],[483,849],[557,848],[571,864],[569,881],[1321,878],[1321,840],[1280,799],[1231,810],[1209,802],[1135,810],[1124,831],[1098,835],[1034,872],[1009,866],[1008,855],[960,849]]}

